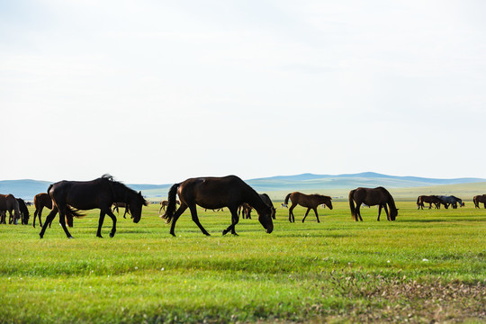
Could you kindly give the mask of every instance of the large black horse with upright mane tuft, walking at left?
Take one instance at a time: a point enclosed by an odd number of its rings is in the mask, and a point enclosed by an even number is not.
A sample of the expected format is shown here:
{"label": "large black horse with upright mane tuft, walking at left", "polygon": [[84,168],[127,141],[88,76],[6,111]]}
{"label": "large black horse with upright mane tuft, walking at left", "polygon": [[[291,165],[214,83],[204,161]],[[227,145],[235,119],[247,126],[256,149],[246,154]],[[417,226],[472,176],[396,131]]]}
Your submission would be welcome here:
{"label": "large black horse with upright mane tuft, walking at left", "polygon": [[113,222],[112,231],[110,232],[110,237],[112,238],[116,232],[116,217],[111,209],[113,202],[127,203],[134,223],[138,223],[140,220],[142,206],[148,205],[141,193],[137,193],[125,184],[114,181],[112,175],[103,175],[92,181],[60,181],[56,184],[50,184],[48,193],[50,199],[52,199],[53,206],[40,230],[40,238],[44,237],[47,224],[54,219],[57,213],[59,213],[59,223],[64,229],[67,238],[72,238],[67,231],[64,217],[67,216],[68,219],[72,219],[73,216],[84,216],[76,211],[75,208],[84,211],[94,208],[100,209],[100,219],[96,232],[98,238],[103,238],[101,229],[104,215],[108,214]]}

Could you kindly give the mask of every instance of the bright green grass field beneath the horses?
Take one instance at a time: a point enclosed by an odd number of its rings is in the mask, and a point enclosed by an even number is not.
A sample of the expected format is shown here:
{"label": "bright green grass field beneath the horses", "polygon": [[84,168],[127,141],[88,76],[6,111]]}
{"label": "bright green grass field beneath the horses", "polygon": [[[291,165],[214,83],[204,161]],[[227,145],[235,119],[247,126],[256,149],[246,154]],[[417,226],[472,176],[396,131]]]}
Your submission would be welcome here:
{"label": "bright green grass field beneath the horses", "polygon": [[397,204],[394,222],[374,207],[352,221],[347,202],[320,223],[277,208],[272,234],[254,217],[238,237],[221,236],[229,211],[199,210],[211,237],[186,212],[173,238],[157,205],[139,224],[120,217],[114,238],[109,218],[95,238],[98,211],[70,240],[58,220],[43,239],[1,225],[0,322],[486,321],[486,210]]}

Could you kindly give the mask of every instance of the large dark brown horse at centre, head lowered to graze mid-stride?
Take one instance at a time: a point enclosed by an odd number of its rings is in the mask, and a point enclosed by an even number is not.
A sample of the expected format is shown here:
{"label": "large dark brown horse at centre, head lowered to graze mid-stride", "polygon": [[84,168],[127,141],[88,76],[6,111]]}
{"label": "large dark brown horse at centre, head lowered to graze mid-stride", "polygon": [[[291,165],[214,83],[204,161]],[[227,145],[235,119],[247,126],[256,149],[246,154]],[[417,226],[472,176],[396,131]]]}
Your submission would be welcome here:
{"label": "large dark brown horse at centre, head lowered to graze mid-stride", "polygon": [[[175,195],[179,195],[181,206],[175,211]],[[175,236],[175,222],[181,214],[189,208],[193,221],[201,229],[202,234],[210,235],[204,229],[197,217],[196,205],[205,209],[218,209],[228,207],[231,212],[231,225],[223,230],[223,235],[229,231],[236,235],[235,225],[238,224],[238,206],[247,202],[258,212],[258,220],[267,233],[274,230],[272,210],[262,201],[258,193],[236,175],[223,177],[200,177],[187,179],[180,184],[174,184],[168,193],[168,206],[162,216],[167,223],[172,221],[170,234]]]}

